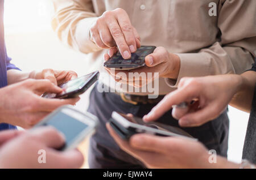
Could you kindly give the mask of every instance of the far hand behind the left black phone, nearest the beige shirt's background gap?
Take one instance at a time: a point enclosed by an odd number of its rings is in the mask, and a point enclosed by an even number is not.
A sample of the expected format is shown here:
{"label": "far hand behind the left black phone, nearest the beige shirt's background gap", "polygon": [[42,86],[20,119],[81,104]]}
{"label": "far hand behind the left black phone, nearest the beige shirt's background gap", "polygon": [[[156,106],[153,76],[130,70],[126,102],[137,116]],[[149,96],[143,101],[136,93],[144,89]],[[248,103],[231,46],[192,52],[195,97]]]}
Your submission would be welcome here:
{"label": "far hand behind the left black phone, nearest the beige shirt's background gap", "polygon": [[55,85],[61,85],[69,80],[76,79],[77,74],[74,71],[57,71],[51,68],[42,71],[32,71],[29,74],[31,79],[48,79]]}

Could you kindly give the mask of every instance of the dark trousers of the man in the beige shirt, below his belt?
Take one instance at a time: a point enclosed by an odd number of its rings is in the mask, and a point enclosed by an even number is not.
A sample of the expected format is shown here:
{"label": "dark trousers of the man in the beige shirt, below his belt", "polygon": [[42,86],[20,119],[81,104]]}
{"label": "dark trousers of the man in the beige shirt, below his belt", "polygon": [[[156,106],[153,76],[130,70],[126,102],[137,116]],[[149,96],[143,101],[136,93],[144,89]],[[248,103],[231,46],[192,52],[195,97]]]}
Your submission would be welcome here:
{"label": "dark trousers of the man in the beige shirt, below his belt", "polygon": [[[113,111],[125,114],[131,113],[137,117],[143,117],[155,105],[129,104],[115,93],[98,92],[96,84],[90,93],[88,112],[98,117],[100,126],[96,134],[90,138],[88,156],[90,168],[144,168],[140,161],[118,147],[106,129],[106,123],[109,121]],[[172,118],[171,111],[164,114],[158,122],[179,127],[177,120]],[[199,139],[208,149],[215,149],[218,155],[227,156],[229,119],[226,112],[203,126],[183,128],[183,130]]]}

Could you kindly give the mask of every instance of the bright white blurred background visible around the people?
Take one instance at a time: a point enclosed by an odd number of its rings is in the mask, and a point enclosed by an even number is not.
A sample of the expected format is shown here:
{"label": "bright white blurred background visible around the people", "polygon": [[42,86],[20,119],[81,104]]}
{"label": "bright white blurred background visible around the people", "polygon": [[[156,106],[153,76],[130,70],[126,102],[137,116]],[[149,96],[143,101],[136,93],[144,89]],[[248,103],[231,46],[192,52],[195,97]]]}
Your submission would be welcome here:
{"label": "bright white blurred background visible around the people", "polygon": [[[92,68],[90,59],[58,40],[51,28],[53,13],[51,0],[5,1],[5,40],[12,62],[23,71],[53,68],[73,70],[79,76],[87,74]],[[77,109],[86,110],[89,92],[81,96]],[[229,118],[228,158],[240,162],[249,114],[229,106]],[[85,155],[87,146],[88,140],[85,140],[79,147]],[[87,167],[85,163],[84,168]]]}

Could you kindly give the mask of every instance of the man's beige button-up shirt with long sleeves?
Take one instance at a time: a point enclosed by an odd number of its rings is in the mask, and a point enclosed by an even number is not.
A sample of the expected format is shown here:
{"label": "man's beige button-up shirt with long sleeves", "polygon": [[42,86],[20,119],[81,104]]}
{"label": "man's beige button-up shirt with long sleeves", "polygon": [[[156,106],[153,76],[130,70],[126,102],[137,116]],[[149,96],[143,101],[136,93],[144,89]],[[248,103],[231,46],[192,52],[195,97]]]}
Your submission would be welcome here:
{"label": "man's beige button-up shirt with long sleeves", "polygon": [[241,74],[254,62],[255,0],[53,0],[53,3],[56,14],[52,27],[57,36],[73,49],[90,53],[88,58],[102,72],[103,54],[107,50],[90,41],[89,29],[103,12],[118,7],[129,15],[142,45],[164,46],[179,55],[179,76],[175,81],[160,78],[160,95],[174,90],[184,76]]}

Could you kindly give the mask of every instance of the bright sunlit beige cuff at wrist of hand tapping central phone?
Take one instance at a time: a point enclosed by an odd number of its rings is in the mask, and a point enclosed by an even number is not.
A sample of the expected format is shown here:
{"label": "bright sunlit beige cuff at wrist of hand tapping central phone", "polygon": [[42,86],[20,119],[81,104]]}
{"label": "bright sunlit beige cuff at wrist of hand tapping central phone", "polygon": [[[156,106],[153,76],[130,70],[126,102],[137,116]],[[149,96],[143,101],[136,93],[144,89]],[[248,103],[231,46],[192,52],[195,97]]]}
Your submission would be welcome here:
{"label": "bright sunlit beige cuff at wrist of hand tapping central phone", "polygon": [[85,54],[101,50],[90,40],[90,27],[96,22],[97,17],[81,19],[76,25],[75,41],[77,49]]}

